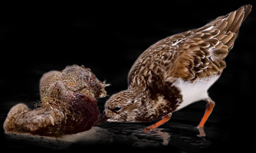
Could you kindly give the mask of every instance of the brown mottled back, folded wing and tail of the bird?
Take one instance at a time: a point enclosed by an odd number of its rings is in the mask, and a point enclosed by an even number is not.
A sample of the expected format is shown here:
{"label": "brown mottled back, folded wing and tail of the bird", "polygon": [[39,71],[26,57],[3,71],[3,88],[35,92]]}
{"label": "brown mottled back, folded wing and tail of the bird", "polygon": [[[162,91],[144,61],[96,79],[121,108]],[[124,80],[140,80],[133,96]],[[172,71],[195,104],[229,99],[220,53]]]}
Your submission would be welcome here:
{"label": "brown mottled back, folded wing and tail of the bird", "polygon": [[150,86],[153,74],[169,83],[177,78],[194,81],[219,75],[226,66],[224,58],[233,47],[241,22],[250,11],[251,5],[245,5],[202,28],[156,42],[133,64],[129,87]]}

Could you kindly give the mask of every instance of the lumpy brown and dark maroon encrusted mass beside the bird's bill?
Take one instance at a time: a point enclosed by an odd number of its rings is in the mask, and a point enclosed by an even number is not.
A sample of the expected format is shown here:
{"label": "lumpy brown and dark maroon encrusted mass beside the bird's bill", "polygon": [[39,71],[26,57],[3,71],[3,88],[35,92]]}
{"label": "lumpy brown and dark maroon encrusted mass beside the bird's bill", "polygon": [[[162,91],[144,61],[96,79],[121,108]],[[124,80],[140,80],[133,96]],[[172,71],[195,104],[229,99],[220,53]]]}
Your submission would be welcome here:
{"label": "lumpy brown and dark maroon encrusted mass beside the bird's bill", "polygon": [[60,136],[89,130],[100,115],[97,98],[107,96],[104,87],[84,66],[44,73],[40,80],[41,108],[13,106],[5,119],[6,132],[30,132]]}

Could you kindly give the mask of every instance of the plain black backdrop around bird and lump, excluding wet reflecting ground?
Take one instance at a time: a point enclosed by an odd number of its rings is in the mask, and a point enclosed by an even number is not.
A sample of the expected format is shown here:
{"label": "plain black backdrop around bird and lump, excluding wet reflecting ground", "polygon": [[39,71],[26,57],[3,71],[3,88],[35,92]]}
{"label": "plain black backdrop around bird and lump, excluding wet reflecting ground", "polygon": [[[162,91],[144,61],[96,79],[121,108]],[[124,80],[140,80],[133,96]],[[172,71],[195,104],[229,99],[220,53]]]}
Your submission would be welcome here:
{"label": "plain black backdrop around bird and lump, excluding wet reflecting ground", "polygon": [[[8,6],[1,13],[0,126],[12,106],[25,103],[33,109],[40,100],[39,80],[50,70],[63,70],[67,65],[84,64],[101,81],[112,86],[108,95],[127,89],[127,76],[139,54],[162,38],[202,27],[220,15],[235,11],[242,2],[149,2],[147,4],[30,4]],[[22,4],[23,6],[24,4]],[[209,150],[256,151],[254,133],[254,58],[255,15],[241,26],[235,47],[226,58],[227,68],[208,91],[215,101],[212,116],[205,127],[212,128]],[[108,99],[99,99],[98,106]],[[182,116],[195,110],[192,116]],[[199,102],[174,113],[173,120],[198,121],[205,111]],[[180,116],[179,116],[180,114]],[[176,117],[175,117],[176,116]],[[194,123],[195,126],[198,123]],[[172,119],[168,122],[172,123]],[[166,125],[168,125],[166,124]],[[205,132],[210,133],[209,130]],[[172,138],[170,143],[182,145]],[[15,144],[7,142],[7,148]],[[31,144],[24,143],[24,149]],[[21,145],[17,145],[22,149]],[[12,148],[12,147],[11,147]]]}

